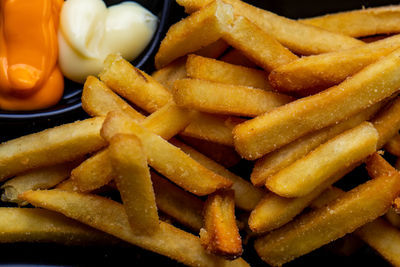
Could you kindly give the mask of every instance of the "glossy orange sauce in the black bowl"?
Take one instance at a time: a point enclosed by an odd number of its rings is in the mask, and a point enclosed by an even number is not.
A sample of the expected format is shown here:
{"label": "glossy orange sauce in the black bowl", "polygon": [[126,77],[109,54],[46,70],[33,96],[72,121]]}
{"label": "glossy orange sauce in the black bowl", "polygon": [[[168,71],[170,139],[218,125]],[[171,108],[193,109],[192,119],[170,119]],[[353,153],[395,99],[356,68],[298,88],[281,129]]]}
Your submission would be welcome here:
{"label": "glossy orange sauce in the black bowl", "polygon": [[0,0],[0,109],[42,109],[60,100],[57,28],[63,2]]}

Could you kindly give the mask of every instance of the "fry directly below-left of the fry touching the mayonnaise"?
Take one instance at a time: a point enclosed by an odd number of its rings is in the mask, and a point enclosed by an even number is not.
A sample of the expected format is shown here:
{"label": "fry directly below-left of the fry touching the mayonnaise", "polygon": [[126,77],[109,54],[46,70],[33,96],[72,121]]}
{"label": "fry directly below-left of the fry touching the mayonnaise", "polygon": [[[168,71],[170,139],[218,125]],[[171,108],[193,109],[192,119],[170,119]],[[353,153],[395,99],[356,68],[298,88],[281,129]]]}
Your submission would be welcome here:
{"label": "fry directly below-left of the fry touching the mayonnaise", "polygon": [[105,117],[109,111],[115,110],[124,112],[138,122],[145,118],[93,76],[87,77],[85,81],[82,91],[82,108],[92,117]]}

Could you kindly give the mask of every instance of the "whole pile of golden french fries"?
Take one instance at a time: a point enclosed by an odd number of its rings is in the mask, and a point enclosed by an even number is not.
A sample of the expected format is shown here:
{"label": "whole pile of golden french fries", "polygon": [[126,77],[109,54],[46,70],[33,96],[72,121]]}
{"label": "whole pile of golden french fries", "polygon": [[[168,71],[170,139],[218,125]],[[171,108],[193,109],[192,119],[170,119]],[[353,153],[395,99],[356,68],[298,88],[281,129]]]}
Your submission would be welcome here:
{"label": "whole pile of golden french fries", "polygon": [[[0,242],[123,240],[248,266],[253,239],[281,266],[359,238],[400,266],[400,173],[382,157],[400,157],[400,7],[296,21],[240,0],[177,2],[189,15],[153,74],[109,55],[84,85],[91,118],[0,145],[1,200],[20,206],[0,208]],[[249,177],[229,170],[243,164]],[[334,186],[358,166],[370,180]]]}

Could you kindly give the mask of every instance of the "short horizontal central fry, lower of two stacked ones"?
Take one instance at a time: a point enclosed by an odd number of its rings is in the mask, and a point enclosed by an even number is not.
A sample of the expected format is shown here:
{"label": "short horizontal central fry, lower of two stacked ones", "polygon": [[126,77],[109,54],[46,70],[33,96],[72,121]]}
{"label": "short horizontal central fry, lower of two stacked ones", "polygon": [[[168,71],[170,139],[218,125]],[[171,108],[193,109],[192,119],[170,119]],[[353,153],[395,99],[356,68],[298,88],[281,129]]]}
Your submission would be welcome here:
{"label": "short horizontal central fry, lower of two stacked ones", "polygon": [[174,83],[175,103],[207,113],[254,117],[293,100],[287,95],[247,86],[198,79]]}

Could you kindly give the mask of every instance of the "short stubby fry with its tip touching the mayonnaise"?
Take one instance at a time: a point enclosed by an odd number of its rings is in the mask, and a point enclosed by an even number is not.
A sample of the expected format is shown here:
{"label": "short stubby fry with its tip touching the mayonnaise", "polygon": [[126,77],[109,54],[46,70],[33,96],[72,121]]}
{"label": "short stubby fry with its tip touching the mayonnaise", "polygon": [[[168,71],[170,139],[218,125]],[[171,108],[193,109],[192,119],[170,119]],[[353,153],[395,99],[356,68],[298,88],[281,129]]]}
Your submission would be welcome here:
{"label": "short stubby fry with its tip touching the mayonnaise", "polygon": [[100,80],[147,112],[156,111],[172,99],[167,89],[151,76],[133,67],[120,55],[109,55],[104,64],[105,68],[99,74]]}

